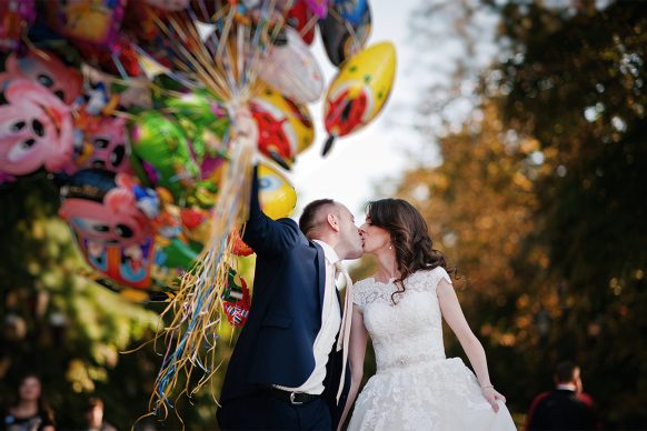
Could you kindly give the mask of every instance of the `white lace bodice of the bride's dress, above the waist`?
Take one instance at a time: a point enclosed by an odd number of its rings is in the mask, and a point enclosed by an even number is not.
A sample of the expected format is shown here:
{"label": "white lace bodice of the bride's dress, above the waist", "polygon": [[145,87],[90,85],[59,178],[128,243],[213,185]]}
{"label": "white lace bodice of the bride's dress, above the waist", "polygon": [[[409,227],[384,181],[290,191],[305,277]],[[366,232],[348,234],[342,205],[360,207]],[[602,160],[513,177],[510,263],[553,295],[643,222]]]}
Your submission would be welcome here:
{"label": "white lace bodice of the bride's dress, above the waist", "polygon": [[391,293],[398,287],[391,280],[380,283],[365,279],[355,284],[354,302],[364,314],[364,323],[372,340],[377,371],[445,360],[442,317],[436,295],[438,282],[451,280],[445,269],[415,272],[405,280],[406,291]]}

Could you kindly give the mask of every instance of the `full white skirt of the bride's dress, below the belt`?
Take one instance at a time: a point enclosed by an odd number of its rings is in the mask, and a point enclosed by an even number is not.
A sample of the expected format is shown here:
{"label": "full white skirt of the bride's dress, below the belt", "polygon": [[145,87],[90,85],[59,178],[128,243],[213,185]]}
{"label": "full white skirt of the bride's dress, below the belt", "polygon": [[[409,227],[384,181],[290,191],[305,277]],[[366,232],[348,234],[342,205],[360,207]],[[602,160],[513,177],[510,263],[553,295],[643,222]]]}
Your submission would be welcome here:
{"label": "full white skirt of the bride's dress, below the belt", "polygon": [[378,370],[357,398],[348,430],[516,430],[495,413],[459,358]]}

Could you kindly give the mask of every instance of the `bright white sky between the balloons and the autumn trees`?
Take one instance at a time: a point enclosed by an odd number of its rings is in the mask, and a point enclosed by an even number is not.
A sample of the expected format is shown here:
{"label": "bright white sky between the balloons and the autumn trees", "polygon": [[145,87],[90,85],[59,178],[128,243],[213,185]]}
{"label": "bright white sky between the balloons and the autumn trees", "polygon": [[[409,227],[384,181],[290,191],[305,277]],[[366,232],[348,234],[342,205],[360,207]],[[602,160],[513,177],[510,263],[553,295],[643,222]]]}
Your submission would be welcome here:
{"label": "bright white sky between the balloons and the autumn trees", "polygon": [[[420,136],[408,127],[408,119],[417,101],[416,48],[411,43],[409,18],[420,0],[375,0],[370,3],[372,28],[368,46],[389,40],[396,46],[397,68],[391,94],[382,111],[368,126],[352,134],[337,139],[331,152],[321,157],[327,138],[322,121],[322,103],[310,106],[316,126],[315,143],[299,154],[292,172],[288,176],[298,193],[297,208],[292,218],[298,219],[301,209],[310,201],[331,198],[344,204],[355,214],[358,223],[364,222],[364,206],[376,198],[376,184],[382,183],[386,193],[395,186],[397,178],[407,168],[414,152],[426,163],[434,163],[434,151],[424,151]],[[311,47],[330,83],[337,69],[326,57],[320,36]],[[321,98],[325,99],[325,94]],[[409,114],[410,113],[410,114]],[[420,156],[421,154],[421,156]],[[410,164],[410,162],[409,162]],[[384,197],[384,196],[381,196]]]}

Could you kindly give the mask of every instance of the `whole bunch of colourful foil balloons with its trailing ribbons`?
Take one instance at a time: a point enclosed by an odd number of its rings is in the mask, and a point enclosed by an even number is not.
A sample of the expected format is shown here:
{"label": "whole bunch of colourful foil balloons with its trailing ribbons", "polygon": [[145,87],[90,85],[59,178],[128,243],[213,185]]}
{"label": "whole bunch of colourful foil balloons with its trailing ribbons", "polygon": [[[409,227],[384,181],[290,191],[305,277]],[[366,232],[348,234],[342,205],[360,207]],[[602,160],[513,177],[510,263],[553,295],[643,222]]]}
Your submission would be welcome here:
{"label": "whole bunch of colourful foil balloons with its trailing ribbons", "polygon": [[394,80],[392,44],[366,48],[366,0],[0,2],[0,184],[56,181],[84,273],[169,302],[156,411],[180,375],[203,372],[191,394],[216,371],[222,312],[245,323],[249,292],[231,274],[252,252],[238,233],[252,166],[266,213],[296,206],[281,171],[315,141],[317,27],[339,67],[328,152],[376,117]]}

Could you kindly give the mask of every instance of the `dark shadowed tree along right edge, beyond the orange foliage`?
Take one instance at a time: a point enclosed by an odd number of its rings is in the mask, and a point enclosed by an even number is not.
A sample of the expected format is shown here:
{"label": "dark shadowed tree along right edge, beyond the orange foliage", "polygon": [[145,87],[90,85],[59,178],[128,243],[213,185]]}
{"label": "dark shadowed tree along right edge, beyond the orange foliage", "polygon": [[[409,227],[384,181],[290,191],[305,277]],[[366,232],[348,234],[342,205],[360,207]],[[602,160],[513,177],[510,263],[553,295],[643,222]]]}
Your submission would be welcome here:
{"label": "dark shadowed tree along right edge, beyond the orange foliage", "polygon": [[[566,298],[553,345],[578,358],[611,428],[643,424],[647,385],[647,4],[500,9],[505,121],[550,153],[538,221]],[[497,97],[498,94],[491,94]]]}

